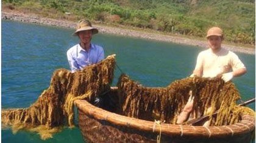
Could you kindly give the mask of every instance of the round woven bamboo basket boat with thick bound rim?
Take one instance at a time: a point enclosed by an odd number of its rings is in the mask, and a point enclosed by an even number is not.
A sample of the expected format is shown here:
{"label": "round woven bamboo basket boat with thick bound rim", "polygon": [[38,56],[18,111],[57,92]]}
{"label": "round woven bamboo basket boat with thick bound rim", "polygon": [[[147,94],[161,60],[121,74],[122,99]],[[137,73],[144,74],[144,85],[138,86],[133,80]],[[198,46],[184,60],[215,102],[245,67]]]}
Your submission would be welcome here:
{"label": "round woven bamboo basket boat with thick bound rim", "polygon": [[[117,88],[110,94],[115,97]],[[76,100],[79,127],[85,142],[218,142],[247,143],[255,129],[255,117],[244,115],[242,120],[227,126],[193,126],[156,124],[152,121],[129,118],[102,108],[85,100]]]}

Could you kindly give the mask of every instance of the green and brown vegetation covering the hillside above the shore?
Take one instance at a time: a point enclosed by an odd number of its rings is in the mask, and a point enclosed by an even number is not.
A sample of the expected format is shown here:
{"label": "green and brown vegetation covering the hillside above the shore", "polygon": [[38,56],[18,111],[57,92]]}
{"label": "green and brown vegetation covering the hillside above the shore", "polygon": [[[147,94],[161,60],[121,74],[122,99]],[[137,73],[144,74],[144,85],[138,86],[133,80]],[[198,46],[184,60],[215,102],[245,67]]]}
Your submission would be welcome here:
{"label": "green and brown vegetation covering the hillside above the shore", "polygon": [[219,26],[227,41],[255,45],[255,0],[2,0],[2,7],[199,37]]}

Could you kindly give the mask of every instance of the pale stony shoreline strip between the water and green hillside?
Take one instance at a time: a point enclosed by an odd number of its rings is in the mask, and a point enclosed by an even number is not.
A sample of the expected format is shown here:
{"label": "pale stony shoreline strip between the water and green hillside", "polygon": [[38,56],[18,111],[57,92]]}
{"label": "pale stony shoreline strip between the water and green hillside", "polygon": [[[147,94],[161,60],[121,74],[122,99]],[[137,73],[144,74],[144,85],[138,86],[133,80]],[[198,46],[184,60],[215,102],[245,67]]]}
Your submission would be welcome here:
{"label": "pale stony shoreline strip between the water and green hillside", "polygon": [[[56,19],[50,19],[50,18],[41,18],[40,16],[37,16],[34,14],[27,14],[27,13],[20,13],[20,12],[2,12],[1,19],[27,22],[27,23],[33,23],[33,24],[41,24],[41,25],[51,25],[51,26],[63,27],[63,28],[73,28],[73,29],[76,28],[76,22],[56,20]],[[93,24],[93,26],[98,28],[100,33],[123,35],[123,36],[130,36],[133,38],[134,37],[143,38],[143,39],[163,41],[163,42],[172,42],[175,44],[193,45],[198,47],[204,47],[205,49],[207,48],[206,41],[199,41],[196,39],[181,38],[181,37],[169,36],[169,35],[160,35],[155,33],[140,32],[137,30],[128,30],[124,28],[108,27],[108,26],[96,25],[96,24]],[[250,55],[255,55],[255,48],[245,48],[245,47],[238,47],[238,46],[226,45],[226,44],[222,44],[222,47],[232,52],[247,53]]]}

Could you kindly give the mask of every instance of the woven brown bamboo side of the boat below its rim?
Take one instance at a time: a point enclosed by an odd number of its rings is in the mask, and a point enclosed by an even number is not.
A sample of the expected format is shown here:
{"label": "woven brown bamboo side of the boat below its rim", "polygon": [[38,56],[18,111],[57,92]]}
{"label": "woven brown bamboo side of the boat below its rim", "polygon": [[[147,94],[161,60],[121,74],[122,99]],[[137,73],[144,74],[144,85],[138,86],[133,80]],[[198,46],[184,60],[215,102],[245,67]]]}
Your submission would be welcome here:
{"label": "woven brown bamboo side of the boat below its rim", "polygon": [[[79,110],[79,127],[85,142],[157,142],[159,133],[152,131],[135,130],[133,128],[124,127],[122,125],[112,124],[110,122],[93,118]],[[170,129],[171,130],[171,129]],[[180,137],[161,135],[161,142],[210,142],[210,143],[226,143],[226,142],[249,142],[250,134],[244,133],[237,136],[229,136],[222,138],[199,138],[199,137]]]}

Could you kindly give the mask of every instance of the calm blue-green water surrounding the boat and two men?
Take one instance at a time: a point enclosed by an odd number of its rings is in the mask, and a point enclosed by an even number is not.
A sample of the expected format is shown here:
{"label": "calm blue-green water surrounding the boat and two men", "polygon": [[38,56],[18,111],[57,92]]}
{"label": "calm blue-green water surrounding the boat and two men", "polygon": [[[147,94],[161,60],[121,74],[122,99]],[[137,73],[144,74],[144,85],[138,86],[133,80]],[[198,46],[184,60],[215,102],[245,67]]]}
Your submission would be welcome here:
{"label": "calm blue-green water surrounding the boat and two men", "polygon": [[[19,22],[2,21],[2,108],[29,107],[48,88],[57,68],[69,69],[66,51],[77,44],[73,30]],[[116,54],[117,64],[130,78],[148,87],[165,87],[189,76],[196,64],[199,47],[148,41],[126,36],[93,37],[102,45],[105,56]],[[242,99],[255,96],[255,55],[237,53],[247,74],[233,80]],[[116,84],[121,74],[116,69]],[[255,104],[250,105],[255,108]],[[2,130],[2,142],[83,142],[78,128],[65,128],[54,138],[42,141],[36,133]]]}

